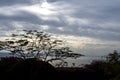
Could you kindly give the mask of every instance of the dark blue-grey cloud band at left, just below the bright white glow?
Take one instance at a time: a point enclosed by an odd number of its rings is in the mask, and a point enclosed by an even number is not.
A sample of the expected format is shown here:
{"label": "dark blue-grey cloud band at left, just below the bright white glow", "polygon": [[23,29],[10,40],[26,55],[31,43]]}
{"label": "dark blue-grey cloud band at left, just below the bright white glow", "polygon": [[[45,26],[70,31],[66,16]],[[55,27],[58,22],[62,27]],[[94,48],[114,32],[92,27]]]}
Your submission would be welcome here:
{"label": "dark blue-grey cloud band at left, just below the bright white glow", "polygon": [[42,23],[40,18],[28,12],[20,12],[20,14],[16,14],[12,16],[0,15],[0,21],[6,21],[6,22],[7,21],[18,21],[18,22],[22,21],[22,22],[29,22],[33,24]]}

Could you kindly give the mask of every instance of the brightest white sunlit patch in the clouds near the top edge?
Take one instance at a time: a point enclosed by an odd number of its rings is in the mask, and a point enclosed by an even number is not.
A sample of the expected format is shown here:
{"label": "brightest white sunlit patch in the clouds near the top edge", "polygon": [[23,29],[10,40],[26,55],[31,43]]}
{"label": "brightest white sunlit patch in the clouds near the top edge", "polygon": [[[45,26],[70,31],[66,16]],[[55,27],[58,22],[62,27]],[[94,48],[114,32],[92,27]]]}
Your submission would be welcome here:
{"label": "brightest white sunlit patch in the clouds near the top edge", "polygon": [[20,9],[36,14],[38,17],[41,17],[41,15],[49,16],[56,14],[56,12],[54,11],[55,7],[52,4],[48,3],[47,0],[34,5],[23,6]]}

